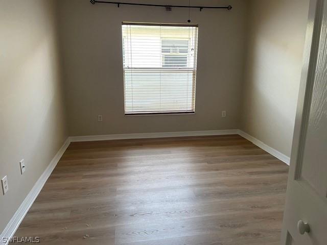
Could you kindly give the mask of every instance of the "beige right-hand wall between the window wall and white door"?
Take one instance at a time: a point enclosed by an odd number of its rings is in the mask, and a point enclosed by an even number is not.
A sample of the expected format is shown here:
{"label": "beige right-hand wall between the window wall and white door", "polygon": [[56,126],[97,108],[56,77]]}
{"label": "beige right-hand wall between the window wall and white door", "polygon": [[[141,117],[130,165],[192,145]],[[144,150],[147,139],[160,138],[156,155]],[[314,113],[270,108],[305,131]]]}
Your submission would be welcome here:
{"label": "beige right-hand wall between the window wall and white door", "polygon": [[249,7],[241,129],[290,156],[309,0]]}

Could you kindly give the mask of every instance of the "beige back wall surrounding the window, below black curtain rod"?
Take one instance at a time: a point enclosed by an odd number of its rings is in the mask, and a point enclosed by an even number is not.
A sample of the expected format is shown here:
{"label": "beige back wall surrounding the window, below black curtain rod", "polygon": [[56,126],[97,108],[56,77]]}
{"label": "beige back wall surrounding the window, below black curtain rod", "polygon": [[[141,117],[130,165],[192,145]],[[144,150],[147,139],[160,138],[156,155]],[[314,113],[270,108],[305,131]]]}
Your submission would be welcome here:
{"label": "beige back wall surrounding the window, below black curtain rod", "polygon": [[[137,1],[134,1],[137,2]],[[153,3],[153,1],[138,1]],[[187,1],[155,1],[188,4]],[[60,30],[67,92],[69,134],[98,135],[236,129],[240,120],[246,3],[193,0],[192,4],[228,5],[227,10],[192,10],[199,24],[195,115],[125,116],[122,21],[186,23],[188,9],[91,5],[60,2]],[[221,117],[221,111],[227,117]],[[103,114],[103,122],[97,115]]]}

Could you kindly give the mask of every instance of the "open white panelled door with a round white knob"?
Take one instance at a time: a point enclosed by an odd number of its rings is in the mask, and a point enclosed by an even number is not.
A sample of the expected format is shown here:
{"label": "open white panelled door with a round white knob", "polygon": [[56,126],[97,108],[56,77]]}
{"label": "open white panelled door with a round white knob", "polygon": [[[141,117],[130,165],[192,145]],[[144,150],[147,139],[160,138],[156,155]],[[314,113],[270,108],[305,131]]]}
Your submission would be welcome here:
{"label": "open white panelled door with a round white knob", "polygon": [[282,244],[327,244],[327,0],[310,1]]}

